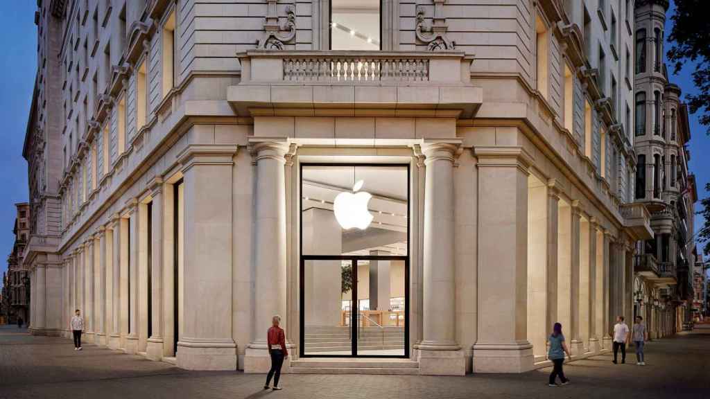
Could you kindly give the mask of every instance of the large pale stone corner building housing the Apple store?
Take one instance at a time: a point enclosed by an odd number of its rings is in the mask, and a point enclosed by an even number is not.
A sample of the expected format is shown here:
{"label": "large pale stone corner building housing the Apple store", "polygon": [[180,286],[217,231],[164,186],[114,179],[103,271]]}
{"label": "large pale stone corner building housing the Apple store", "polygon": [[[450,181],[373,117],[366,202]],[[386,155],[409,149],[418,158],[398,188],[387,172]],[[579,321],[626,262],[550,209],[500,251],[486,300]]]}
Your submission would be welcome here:
{"label": "large pale stone corner building housing the Apple store", "polygon": [[266,371],[278,314],[291,371],[463,374],[630,319],[633,2],[38,4],[33,334]]}

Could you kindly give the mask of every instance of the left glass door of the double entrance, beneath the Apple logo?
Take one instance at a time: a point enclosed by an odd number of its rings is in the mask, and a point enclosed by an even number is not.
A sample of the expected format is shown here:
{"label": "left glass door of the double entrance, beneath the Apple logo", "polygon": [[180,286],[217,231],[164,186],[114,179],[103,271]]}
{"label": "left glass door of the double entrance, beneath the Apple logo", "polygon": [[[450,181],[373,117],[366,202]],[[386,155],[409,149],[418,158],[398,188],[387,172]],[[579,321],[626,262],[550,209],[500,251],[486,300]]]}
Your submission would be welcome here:
{"label": "left glass door of the double entrance, beneath the Apple logo", "polygon": [[303,263],[303,349],[305,355],[353,354],[352,261]]}

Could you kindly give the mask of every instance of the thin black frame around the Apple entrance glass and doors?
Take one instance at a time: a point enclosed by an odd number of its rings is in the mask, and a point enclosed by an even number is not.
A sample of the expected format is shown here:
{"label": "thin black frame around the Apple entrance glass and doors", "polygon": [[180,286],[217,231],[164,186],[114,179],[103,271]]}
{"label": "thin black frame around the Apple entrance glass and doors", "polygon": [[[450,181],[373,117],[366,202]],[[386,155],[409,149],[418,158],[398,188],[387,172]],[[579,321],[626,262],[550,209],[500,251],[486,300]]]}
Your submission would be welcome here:
{"label": "thin black frame around the Apple entrance glass and doors", "polygon": [[[299,241],[299,356],[308,357],[331,357],[331,358],[394,358],[408,359],[410,356],[409,350],[409,309],[410,309],[410,228],[411,228],[411,212],[410,201],[411,196],[411,165],[410,163],[300,163],[298,170],[298,209],[303,212],[303,168],[309,166],[352,166],[352,167],[390,167],[390,168],[406,168],[407,169],[407,255],[405,256],[330,256],[330,255],[303,255],[303,224],[301,214],[298,218],[298,241]],[[305,261],[351,261],[352,273],[352,289],[351,289],[351,306],[350,306],[350,327],[351,327],[351,354],[349,355],[327,355],[327,354],[305,354]],[[357,302],[357,266],[359,261],[404,261],[404,354],[403,355],[359,355],[357,354],[357,318],[359,314],[359,304]]]}

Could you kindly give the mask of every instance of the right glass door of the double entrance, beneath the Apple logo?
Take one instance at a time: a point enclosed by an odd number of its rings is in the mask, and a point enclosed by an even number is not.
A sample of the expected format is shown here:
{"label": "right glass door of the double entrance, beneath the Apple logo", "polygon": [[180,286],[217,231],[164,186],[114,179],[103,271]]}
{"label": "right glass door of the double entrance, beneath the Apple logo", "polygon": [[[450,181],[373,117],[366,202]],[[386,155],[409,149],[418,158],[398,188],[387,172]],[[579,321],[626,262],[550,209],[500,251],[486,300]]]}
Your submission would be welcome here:
{"label": "right glass door of the double entrance, beneath the Apple logo", "polygon": [[405,268],[401,259],[357,261],[358,355],[405,355]]}

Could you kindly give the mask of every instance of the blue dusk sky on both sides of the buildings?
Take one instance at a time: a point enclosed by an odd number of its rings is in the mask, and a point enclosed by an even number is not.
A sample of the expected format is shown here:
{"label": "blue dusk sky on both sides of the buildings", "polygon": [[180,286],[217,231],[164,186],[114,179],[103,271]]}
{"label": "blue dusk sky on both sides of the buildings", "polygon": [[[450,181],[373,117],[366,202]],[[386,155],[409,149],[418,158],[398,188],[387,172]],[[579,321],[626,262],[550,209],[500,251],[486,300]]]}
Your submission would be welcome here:
{"label": "blue dusk sky on both sides of the buildings", "polygon": [[[672,3],[672,1],[671,1]],[[0,273],[6,268],[6,256],[12,251],[12,233],[17,202],[28,200],[27,163],[22,158],[22,145],[28,112],[32,101],[32,90],[37,68],[37,30],[33,22],[35,1],[3,1],[0,6]],[[669,12],[672,13],[673,6]],[[670,21],[670,20],[669,20]],[[670,33],[670,22],[666,26],[666,37]],[[670,48],[670,45],[666,45]],[[687,65],[670,80],[681,87],[684,94],[695,92],[690,76],[692,65]],[[53,77],[50,77],[50,79]],[[58,78],[58,77],[55,77]],[[699,197],[706,197],[704,187],[710,182],[710,138],[700,126],[697,116],[691,115],[692,140],[689,143],[690,170],[697,177]],[[703,221],[696,219],[696,227]]]}

